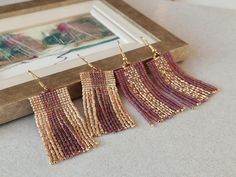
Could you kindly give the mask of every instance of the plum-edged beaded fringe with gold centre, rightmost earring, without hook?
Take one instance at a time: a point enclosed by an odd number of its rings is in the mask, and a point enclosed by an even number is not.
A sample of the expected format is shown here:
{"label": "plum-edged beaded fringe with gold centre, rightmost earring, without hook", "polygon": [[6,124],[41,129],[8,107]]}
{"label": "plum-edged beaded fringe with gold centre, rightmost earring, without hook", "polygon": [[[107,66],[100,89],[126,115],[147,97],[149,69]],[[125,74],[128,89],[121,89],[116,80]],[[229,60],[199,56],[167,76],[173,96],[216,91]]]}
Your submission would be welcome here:
{"label": "plum-edged beaded fringe with gold centre, rightmost earring, without hook", "polygon": [[147,62],[156,86],[186,107],[194,107],[205,102],[217,88],[197,80],[174,62],[170,53]]}

